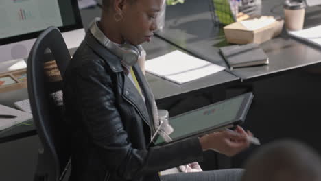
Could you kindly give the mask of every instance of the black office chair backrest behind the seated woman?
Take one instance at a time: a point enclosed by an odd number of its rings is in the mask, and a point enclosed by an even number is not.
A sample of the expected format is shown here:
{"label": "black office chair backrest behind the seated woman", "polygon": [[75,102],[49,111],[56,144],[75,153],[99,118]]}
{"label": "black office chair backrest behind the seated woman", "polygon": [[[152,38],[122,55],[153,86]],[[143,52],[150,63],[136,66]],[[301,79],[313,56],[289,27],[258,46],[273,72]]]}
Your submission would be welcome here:
{"label": "black office chair backrest behind the seated woman", "polygon": [[[49,61],[52,58],[56,63]],[[34,180],[62,180],[70,165],[71,144],[68,125],[62,114],[61,91],[61,77],[70,60],[67,46],[56,27],[45,29],[29,53],[27,88],[34,123],[42,144]],[[59,71],[55,71],[56,64]]]}

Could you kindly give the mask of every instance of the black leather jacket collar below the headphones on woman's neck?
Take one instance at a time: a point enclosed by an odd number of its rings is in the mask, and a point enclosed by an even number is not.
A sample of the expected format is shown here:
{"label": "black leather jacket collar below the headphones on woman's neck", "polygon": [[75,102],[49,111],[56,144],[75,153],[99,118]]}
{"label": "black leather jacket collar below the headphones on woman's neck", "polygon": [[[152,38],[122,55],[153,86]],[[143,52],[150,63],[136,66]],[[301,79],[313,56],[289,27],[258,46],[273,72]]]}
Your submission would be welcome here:
{"label": "black leather jacket collar below the headphones on woman's neck", "polygon": [[[106,49],[104,45],[100,44],[95,37],[91,34],[90,31],[87,32],[85,37],[85,42],[95,53],[102,57],[102,59],[109,65],[109,67],[114,72],[123,71],[123,67],[121,65],[119,57],[115,56],[110,50]],[[108,61],[106,61],[108,60]]]}

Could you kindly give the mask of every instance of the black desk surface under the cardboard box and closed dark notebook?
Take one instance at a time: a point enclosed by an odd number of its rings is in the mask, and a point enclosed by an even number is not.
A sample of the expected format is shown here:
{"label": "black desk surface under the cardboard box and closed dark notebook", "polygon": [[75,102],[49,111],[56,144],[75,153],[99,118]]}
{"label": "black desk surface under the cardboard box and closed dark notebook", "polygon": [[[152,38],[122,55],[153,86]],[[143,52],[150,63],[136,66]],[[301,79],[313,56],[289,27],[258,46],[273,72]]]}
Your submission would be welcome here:
{"label": "black desk surface under the cardboard box and closed dark notebook", "polygon": [[[278,0],[263,1],[262,12],[283,16]],[[319,7],[308,8],[305,27],[321,24],[318,16],[321,16]],[[196,56],[226,66],[218,52],[219,47],[228,43],[222,27],[215,27],[212,23],[208,0],[185,1],[184,4],[167,6],[165,27],[157,35]],[[320,48],[289,37],[286,32],[262,43],[261,47],[270,58],[269,65],[235,69],[231,73],[242,80],[252,80],[254,77],[265,77],[321,62]]]}

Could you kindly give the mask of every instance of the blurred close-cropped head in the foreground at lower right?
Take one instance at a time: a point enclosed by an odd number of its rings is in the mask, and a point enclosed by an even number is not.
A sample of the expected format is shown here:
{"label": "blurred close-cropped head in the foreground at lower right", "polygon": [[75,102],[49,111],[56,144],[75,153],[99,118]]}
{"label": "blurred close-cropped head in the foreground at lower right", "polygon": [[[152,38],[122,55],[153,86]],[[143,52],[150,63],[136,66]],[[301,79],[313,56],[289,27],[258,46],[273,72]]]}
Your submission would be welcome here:
{"label": "blurred close-cropped head in the foreground at lower right", "polygon": [[293,140],[268,143],[245,165],[242,181],[320,181],[320,156],[307,145]]}

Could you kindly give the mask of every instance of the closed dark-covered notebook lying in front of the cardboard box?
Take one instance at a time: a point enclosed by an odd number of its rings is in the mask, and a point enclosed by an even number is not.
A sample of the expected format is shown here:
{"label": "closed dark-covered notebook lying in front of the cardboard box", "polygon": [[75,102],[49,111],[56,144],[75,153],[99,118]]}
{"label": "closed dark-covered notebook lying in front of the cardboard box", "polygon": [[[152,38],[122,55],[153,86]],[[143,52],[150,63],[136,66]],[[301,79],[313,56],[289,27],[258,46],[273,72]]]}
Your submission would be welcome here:
{"label": "closed dark-covered notebook lying in front of the cardboard box", "polygon": [[228,64],[228,67],[230,67],[230,70],[237,67],[251,67],[269,63],[268,56],[263,49],[255,43],[230,45],[221,47],[219,51]]}

